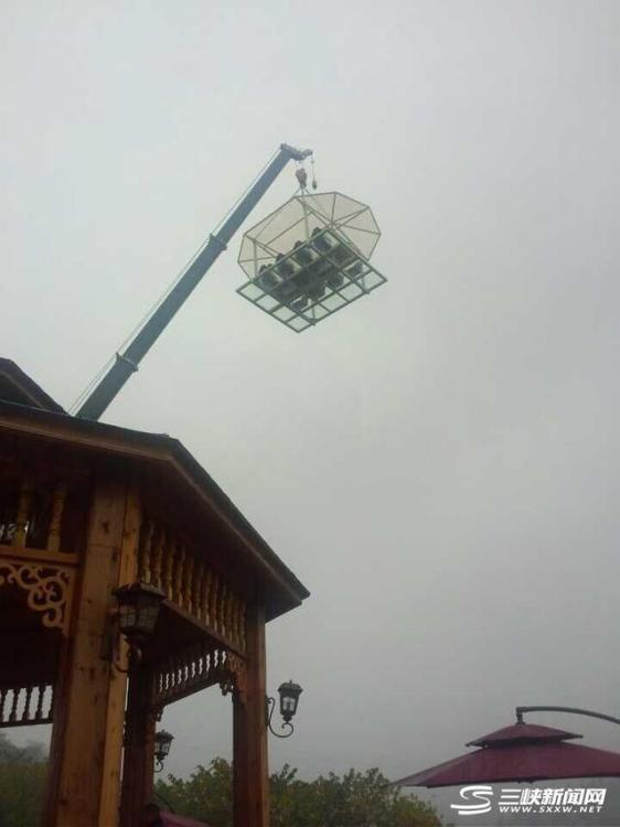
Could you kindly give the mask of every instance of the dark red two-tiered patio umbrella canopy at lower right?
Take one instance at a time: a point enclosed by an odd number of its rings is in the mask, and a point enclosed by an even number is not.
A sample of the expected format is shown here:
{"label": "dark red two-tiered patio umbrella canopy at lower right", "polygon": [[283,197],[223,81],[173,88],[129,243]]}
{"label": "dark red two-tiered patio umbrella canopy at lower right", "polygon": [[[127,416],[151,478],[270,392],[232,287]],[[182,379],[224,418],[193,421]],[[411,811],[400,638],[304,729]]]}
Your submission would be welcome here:
{"label": "dark red two-tiered patio umbrella canopy at lower right", "polygon": [[397,786],[448,787],[543,778],[620,776],[620,753],[566,743],[581,738],[550,727],[515,723],[470,741],[474,752],[395,781]]}

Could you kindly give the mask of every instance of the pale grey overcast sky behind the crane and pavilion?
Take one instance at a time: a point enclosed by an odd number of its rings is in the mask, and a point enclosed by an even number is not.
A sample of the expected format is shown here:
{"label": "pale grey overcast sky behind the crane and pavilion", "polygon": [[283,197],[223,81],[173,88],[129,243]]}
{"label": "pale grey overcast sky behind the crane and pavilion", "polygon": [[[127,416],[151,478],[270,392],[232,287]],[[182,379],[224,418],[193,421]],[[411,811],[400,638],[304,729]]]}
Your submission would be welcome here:
{"label": "pale grey overcast sky behind the crane and pavilion", "polygon": [[[268,630],[269,688],[304,688],[274,767],[398,777],[517,704],[620,715],[619,23],[0,7],[1,351],[63,405],[281,141],[383,230],[387,286],[301,335],[235,293],[239,234],[104,417],[179,437],[312,592]],[[215,689],[169,708],[167,767],[229,755],[229,724]]]}

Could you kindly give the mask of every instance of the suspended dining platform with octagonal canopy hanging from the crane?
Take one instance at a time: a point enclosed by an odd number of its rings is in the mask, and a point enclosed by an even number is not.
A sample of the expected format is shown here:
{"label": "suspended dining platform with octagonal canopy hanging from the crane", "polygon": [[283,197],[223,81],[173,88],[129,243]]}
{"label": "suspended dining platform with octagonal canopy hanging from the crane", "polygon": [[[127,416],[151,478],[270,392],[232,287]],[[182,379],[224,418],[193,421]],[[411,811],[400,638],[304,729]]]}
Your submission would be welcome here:
{"label": "suspended dining platform with octagonal canopy hanging from the crane", "polygon": [[341,193],[300,193],[243,237],[237,292],[300,333],[387,279],[370,264],[381,230]]}

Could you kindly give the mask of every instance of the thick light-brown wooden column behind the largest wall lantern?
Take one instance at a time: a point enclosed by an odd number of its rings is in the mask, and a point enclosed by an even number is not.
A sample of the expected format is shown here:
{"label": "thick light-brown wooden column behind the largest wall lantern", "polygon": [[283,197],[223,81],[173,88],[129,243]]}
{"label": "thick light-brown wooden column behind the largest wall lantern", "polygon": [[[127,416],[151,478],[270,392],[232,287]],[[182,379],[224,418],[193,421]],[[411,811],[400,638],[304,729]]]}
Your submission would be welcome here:
{"label": "thick light-brown wooden column behind the largest wall lantern", "polygon": [[54,709],[47,827],[116,827],[126,676],[103,657],[111,595],[133,578],[139,504],[120,470],[98,474]]}

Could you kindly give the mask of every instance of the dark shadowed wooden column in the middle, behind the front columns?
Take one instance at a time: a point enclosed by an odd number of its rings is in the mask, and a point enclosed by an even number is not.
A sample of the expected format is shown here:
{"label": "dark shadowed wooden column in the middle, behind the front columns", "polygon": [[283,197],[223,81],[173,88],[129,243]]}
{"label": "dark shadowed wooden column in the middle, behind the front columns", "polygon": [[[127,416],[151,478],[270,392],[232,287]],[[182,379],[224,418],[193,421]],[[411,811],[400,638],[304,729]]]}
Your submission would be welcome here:
{"label": "dark shadowed wooden column in the middle, behind the front columns", "polygon": [[121,827],[139,825],[145,804],[152,801],[156,719],[150,700],[151,673],[138,666],[129,678],[127,699]]}

